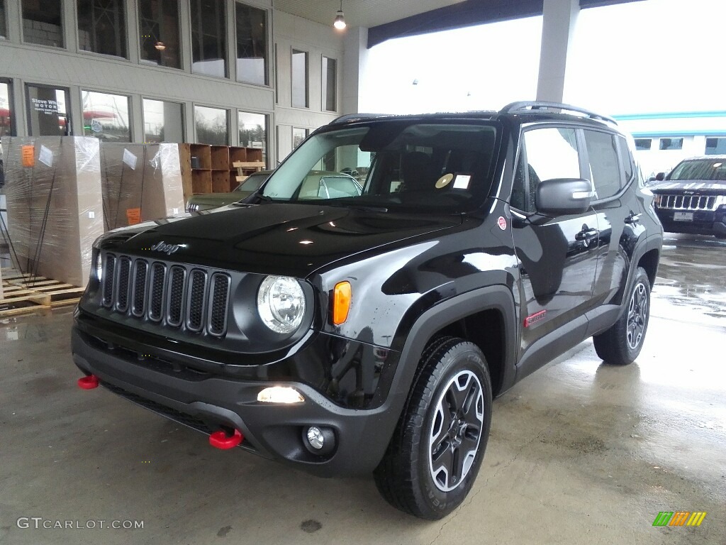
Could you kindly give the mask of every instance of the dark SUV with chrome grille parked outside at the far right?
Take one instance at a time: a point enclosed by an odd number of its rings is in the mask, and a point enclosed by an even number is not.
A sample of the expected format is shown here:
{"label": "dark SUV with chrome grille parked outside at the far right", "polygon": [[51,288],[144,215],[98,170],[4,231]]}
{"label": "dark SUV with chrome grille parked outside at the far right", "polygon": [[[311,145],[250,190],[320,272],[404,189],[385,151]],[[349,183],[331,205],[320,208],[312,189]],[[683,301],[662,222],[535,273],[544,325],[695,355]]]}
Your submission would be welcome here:
{"label": "dark SUV with chrome grille parked outside at the far right", "polygon": [[666,231],[726,238],[726,156],[685,159],[651,190]]}

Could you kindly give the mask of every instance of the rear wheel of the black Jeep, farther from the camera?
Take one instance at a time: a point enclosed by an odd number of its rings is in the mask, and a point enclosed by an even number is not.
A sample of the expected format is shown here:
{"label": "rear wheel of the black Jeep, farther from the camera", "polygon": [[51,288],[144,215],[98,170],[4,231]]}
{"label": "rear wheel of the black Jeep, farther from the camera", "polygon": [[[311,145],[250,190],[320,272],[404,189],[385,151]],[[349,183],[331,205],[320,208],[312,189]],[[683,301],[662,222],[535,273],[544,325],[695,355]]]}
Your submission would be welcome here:
{"label": "rear wheel of the black Jeep, farther from the camera", "polygon": [[595,352],[606,363],[627,366],[640,354],[650,318],[650,280],[643,267],[635,272],[627,298],[627,310],[607,331],[595,335]]}

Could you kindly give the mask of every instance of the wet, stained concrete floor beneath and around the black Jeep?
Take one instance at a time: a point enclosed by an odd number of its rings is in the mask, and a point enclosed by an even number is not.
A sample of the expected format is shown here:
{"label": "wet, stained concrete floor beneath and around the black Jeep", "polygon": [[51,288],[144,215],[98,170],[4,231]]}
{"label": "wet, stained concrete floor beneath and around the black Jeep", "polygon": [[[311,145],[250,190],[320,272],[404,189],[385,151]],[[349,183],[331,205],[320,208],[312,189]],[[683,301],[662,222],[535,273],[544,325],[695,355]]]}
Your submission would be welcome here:
{"label": "wet, stained concrete floor beneath and around the black Jeep", "polygon": [[[473,491],[439,522],[392,509],[370,479],[216,451],[79,390],[70,310],[4,320],[0,543],[726,544],[725,250],[669,235],[637,362],[606,366],[585,342],[502,395]],[[708,514],[654,528],[660,511]],[[20,517],[143,529],[18,528]]]}

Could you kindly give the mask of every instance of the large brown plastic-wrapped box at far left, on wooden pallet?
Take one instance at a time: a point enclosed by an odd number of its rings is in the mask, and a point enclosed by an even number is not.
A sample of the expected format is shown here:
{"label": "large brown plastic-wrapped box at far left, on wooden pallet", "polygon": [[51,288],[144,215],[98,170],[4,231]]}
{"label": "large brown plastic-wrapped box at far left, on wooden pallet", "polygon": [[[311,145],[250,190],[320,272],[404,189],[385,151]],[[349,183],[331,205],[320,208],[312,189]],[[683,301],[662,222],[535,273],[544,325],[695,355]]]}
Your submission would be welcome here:
{"label": "large brown plastic-wrapped box at far left, on wooden pallet", "polygon": [[99,140],[3,137],[2,146],[13,266],[85,286],[103,233]]}

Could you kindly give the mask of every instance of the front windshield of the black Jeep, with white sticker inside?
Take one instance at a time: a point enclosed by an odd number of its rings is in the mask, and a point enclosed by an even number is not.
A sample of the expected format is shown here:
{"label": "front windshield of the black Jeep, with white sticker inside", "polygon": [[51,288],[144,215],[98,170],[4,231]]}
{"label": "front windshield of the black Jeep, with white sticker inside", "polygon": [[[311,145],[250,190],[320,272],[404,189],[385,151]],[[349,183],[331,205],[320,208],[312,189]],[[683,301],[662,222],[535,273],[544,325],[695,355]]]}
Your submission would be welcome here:
{"label": "front windshield of the black Jeep, with white sticker inside", "polygon": [[377,121],[314,134],[274,171],[271,201],[470,209],[489,193],[497,129]]}

